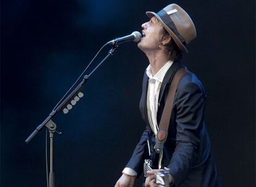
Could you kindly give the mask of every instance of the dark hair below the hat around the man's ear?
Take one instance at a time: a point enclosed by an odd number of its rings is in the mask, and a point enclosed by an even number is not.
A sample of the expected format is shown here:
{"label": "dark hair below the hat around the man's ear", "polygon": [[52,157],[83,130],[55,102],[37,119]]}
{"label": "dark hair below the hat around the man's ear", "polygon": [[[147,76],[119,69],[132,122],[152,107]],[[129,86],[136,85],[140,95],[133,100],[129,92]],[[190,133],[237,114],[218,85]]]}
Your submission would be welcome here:
{"label": "dark hair below the hat around the man's ear", "polygon": [[[166,36],[169,36],[169,33],[163,27],[163,29],[160,31],[160,41],[162,41]],[[173,62],[182,60],[182,52],[179,47],[177,47],[177,44],[173,41],[173,38],[169,44],[165,45],[165,47],[170,60],[173,60]]]}

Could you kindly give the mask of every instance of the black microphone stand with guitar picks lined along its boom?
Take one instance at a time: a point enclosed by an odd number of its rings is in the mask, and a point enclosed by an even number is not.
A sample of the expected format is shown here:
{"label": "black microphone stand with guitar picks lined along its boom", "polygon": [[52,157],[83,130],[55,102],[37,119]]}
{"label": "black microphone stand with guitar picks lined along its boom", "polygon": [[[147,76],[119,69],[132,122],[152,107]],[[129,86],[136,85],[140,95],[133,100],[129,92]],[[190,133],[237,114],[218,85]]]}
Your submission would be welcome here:
{"label": "black microphone stand with guitar picks lined along its boom", "polygon": [[[43,129],[43,127],[48,128],[49,130],[49,140],[50,140],[50,171],[49,171],[49,187],[55,187],[55,180],[54,180],[54,172],[53,172],[53,137],[54,137],[54,132],[56,131],[57,125],[53,122],[53,117],[55,117],[61,109],[63,109],[64,114],[68,113],[70,109],[72,109],[72,106],[70,106],[71,103],[72,105],[75,105],[76,101],[79,99],[77,98],[77,95],[79,98],[83,97],[82,92],[80,90],[82,89],[83,84],[88,81],[90,76],[102,65],[105,60],[110,57],[111,55],[114,55],[117,49],[117,45],[113,44],[113,47],[109,50],[108,55],[106,55],[103,60],[96,66],[96,68],[93,69],[93,71],[88,74],[83,76],[82,82],[75,87],[75,89],[66,97],[64,101],[62,101],[59,106],[56,109],[53,109],[53,111],[49,114],[48,117],[40,124],[36,129],[30,134],[30,136],[25,140],[25,143],[29,143],[40,131]],[[59,135],[61,135],[61,132],[58,132]]]}

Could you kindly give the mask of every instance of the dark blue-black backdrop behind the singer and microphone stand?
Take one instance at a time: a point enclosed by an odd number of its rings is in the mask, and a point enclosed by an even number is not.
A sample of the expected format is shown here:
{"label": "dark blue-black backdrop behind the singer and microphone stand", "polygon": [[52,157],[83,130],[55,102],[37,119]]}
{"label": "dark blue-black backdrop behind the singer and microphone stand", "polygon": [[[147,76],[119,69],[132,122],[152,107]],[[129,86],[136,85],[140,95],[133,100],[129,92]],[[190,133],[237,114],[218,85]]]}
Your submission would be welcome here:
{"label": "dark blue-black backdrop behind the singer and microphone stand", "polygon": [[[197,28],[183,62],[207,90],[225,186],[255,185],[255,1],[2,0],[1,186],[46,186],[45,129],[25,138],[105,42],[141,31],[145,11],[173,2]],[[145,127],[138,106],[147,65],[137,44],[123,44],[82,100],[54,119],[63,132],[54,139],[56,186],[114,186]]]}

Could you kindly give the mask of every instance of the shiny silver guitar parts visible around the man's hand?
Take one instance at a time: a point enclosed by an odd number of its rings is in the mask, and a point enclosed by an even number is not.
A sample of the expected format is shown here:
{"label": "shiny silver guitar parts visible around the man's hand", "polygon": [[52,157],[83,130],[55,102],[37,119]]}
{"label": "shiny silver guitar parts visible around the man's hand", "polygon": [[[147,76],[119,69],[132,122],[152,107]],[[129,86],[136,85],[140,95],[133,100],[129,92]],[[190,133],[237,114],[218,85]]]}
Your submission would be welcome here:
{"label": "shiny silver guitar parts visible around the man's hand", "polygon": [[[150,159],[145,159],[144,162],[144,177],[148,177],[148,171],[151,171],[152,161]],[[164,167],[164,170],[155,173],[156,185],[158,187],[169,187],[169,169]]]}

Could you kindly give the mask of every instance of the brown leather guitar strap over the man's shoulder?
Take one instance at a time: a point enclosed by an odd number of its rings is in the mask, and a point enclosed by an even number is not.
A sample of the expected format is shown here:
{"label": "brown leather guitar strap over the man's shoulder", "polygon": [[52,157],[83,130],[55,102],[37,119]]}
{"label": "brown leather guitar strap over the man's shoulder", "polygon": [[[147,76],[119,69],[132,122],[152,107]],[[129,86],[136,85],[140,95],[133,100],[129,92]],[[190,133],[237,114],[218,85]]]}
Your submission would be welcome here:
{"label": "brown leather guitar strap over the man's shoulder", "polygon": [[171,119],[171,113],[173,110],[173,101],[174,95],[177,89],[177,84],[182,76],[189,71],[185,68],[179,69],[176,74],[174,75],[173,81],[171,82],[171,86],[169,88],[169,92],[165,101],[163,113],[160,120],[159,129],[156,135],[156,144],[155,144],[155,151],[156,153],[160,153],[163,149],[164,142],[166,141],[169,129],[169,122]]}

